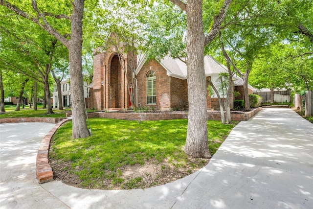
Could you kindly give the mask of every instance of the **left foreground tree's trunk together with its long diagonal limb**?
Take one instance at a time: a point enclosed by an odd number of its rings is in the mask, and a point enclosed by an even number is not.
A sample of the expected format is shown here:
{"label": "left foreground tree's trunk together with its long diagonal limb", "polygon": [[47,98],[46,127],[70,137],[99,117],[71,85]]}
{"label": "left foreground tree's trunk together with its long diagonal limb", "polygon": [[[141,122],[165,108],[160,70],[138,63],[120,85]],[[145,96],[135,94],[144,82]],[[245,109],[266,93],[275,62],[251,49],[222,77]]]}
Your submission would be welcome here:
{"label": "left foreground tree's trunk together with its long diagonal limb", "polygon": [[[46,13],[42,13],[37,6],[36,0],[32,0],[32,7],[37,16],[29,15],[20,8],[13,6],[6,0],[0,0],[0,4],[14,11],[18,15],[38,24],[48,33],[53,35],[69,51],[69,74],[71,79],[72,117],[73,117],[73,138],[85,138],[89,136],[86,123],[85,99],[83,89],[82,69],[82,43],[83,43],[83,13],[84,0],[70,0],[72,5],[71,38],[68,40],[53,28],[45,19]],[[50,15],[47,15],[50,16]]]}

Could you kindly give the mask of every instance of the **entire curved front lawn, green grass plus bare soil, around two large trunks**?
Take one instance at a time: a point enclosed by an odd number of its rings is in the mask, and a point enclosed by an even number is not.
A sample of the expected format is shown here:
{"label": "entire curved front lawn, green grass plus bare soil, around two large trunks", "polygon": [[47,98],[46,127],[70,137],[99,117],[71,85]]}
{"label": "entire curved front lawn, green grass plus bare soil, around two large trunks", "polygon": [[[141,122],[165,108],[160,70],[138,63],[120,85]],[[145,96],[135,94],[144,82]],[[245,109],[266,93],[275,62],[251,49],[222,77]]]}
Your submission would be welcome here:
{"label": "entire curved front lawn, green grass plus bare soil, around two large trunks", "polygon": [[[203,167],[183,151],[187,119],[129,121],[90,118],[92,136],[72,139],[72,122],[60,127],[51,142],[54,176],[83,188],[147,188],[175,181]],[[212,155],[234,125],[208,121]]]}

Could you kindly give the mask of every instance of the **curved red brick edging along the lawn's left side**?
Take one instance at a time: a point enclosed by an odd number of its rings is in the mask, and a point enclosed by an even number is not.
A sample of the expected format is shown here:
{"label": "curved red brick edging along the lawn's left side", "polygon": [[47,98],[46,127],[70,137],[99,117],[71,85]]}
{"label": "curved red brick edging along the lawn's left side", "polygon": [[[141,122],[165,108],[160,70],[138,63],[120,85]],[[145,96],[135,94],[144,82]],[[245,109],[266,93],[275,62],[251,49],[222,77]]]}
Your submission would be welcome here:
{"label": "curved red brick edging along the lawn's left side", "polygon": [[45,182],[50,182],[53,180],[53,172],[52,168],[49,164],[48,160],[48,152],[50,147],[50,141],[52,136],[54,135],[55,131],[65,122],[67,122],[68,119],[64,119],[60,122],[58,122],[47,135],[45,135],[45,138],[41,141],[40,147],[38,149],[37,158],[36,158],[36,177],[38,179],[38,182],[40,184]]}

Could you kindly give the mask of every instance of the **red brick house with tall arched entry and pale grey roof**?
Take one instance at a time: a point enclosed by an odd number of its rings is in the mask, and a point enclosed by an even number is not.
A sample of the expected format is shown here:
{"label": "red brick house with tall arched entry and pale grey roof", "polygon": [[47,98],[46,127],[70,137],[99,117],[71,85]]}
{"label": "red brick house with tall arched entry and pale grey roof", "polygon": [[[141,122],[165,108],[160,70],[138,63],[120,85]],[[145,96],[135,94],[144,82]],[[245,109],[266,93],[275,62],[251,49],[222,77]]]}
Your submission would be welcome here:
{"label": "red brick house with tall arched entry and pale grey roof", "polygon": [[[127,86],[127,79],[129,83],[131,79],[124,73],[114,51],[111,49],[93,54],[94,77],[92,85],[89,85],[89,108],[125,110],[131,107]],[[184,62],[169,56],[160,62],[153,59],[146,60],[145,55],[132,59],[130,55],[125,54],[123,65],[128,75],[132,73],[128,63],[133,60],[136,63],[139,60],[134,72],[136,82],[134,89],[131,89],[137,106],[148,106],[158,110],[188,108],[187,68]],[[209,55],[204,57],[204,68],[206,78],[214,84],[217,84],[219,73],[227,72],[224,65]],[[240,79],[234,78],[235,81]],[[234,90],[243,94],[240,86],[234,86]],[[207,95],[207,109],[219,109],[219,107],[217,97]]]}

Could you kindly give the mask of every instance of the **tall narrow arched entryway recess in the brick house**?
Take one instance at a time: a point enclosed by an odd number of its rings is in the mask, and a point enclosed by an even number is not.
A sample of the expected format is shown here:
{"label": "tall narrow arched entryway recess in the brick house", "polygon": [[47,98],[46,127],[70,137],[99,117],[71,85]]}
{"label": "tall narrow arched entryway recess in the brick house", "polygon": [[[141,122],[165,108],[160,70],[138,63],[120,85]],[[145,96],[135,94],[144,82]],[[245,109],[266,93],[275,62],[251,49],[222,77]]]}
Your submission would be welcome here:
{"label": "tall narrow arched entryway recess in the brick house", "polygon": [[118,56],[111,61],[109,108],[122,108],[122,70]]}

